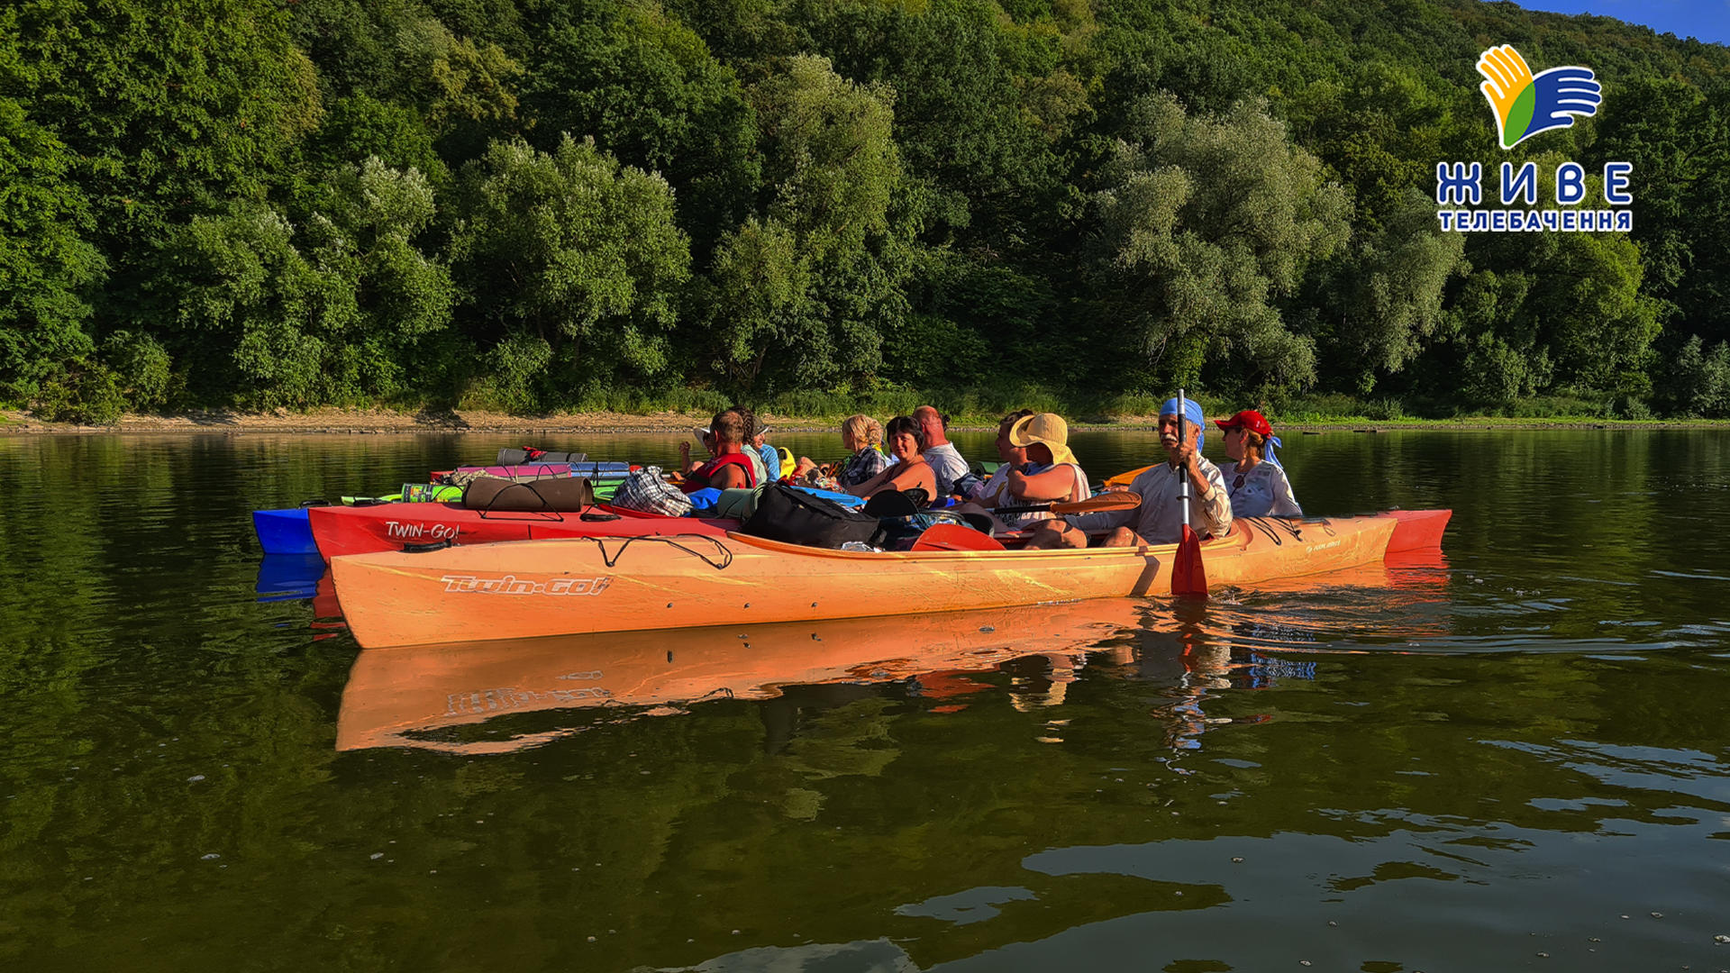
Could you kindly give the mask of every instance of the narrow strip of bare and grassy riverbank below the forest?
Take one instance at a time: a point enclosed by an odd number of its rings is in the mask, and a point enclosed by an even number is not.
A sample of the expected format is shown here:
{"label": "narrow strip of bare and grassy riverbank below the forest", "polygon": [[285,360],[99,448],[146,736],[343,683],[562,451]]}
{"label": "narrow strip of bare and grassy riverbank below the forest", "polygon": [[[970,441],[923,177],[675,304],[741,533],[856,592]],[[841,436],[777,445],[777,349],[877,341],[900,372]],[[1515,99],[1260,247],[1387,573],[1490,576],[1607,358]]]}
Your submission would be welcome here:
{"label": "narrow strip of bare and grassy riverbank below the forest", "polygon": [[[832,419],[763,414],[763,422],[775,429],[832,431]],[[227,433],[227,435],[386,435],[386,433],[547,433],[547,435],[612,435],[612,433],[683,433],[692,426],[708,424],[709,416],[699,412],[571,412],[557,416],[510,416],[484,410],[420,410],[398,412],[391,409],[315,409],[310,412],[228,412],[199,410],[170,416],[128,414],[112,426],[78,426],[73,422],[47,422],[22,410],[0,410],[0,435],[161,435],[161,433]],[[1154,416],[1121,416],[1100,422],[1074,422],[1076,429],[1149,429]],[[1396,429],[1730,429],[1730,421],[1619,421],[1590,417],[1509,419],[1476,416],[1458,419],[1365,419],[1339,417],[1327,421],[1282,422],[1273,417],[1282,433],[1367,431]],[[952,422],[957,429],[990,429],[995,417],[960,416]]]}

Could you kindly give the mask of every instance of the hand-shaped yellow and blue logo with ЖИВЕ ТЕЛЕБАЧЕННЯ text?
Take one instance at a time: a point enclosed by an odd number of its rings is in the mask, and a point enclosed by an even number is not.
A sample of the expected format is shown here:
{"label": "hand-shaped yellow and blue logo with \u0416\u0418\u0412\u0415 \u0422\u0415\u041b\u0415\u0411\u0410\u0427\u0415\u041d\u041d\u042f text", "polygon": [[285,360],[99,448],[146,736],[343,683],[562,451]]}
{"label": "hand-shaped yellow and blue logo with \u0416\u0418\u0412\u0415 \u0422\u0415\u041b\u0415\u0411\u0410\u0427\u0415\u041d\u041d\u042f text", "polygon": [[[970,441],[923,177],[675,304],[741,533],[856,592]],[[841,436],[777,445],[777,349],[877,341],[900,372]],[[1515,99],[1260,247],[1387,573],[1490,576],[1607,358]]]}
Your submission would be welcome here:
{"label": "hand-shaped yellow and blue logo with \u0416\u0418\u0412\u0415 \u0422\u0415\u041b\u0415\u0411\u0410\u0427\u0415\u041d\u041d\u042f text", "polygon": [[[1590,68],[1566,66],[1531,73],[1531,66],[1514,45],[1491,47],[1477,55],[1477,87],[1496,119],[1496,140],[1503,151],[1533,135],[1573,128],[1576,118],[1590,118],[1604,102],[1604,87]],[[1581,206],[1586,201],[1586,170],[1579,163],[1555,166],[1555,208],[1538,209],[1538,164],[1502,163],[1502,206],[1481,209],[1483,163],[1436,163],[1436,220],[1443,232],[1604,232],[1633,230],[1633,194],[1628,192],[1633,166],[1604,163],[1602,209]],[[1465,208],[1470,206],[1470,208]]]}

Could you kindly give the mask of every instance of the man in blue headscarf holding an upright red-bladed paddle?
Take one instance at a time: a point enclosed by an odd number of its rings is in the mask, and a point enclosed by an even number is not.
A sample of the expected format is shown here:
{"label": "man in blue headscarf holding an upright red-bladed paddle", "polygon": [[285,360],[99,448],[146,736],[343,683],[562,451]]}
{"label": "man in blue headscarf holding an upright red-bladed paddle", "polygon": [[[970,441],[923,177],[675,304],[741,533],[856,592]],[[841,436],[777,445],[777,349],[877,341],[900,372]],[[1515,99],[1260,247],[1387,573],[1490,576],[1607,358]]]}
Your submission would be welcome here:
{"label": "man in blue headscarf holding an upright red-bladed paddle", "polygon": [[1104,530],[1111,535],[1099,547],[1176,544],[1183,526],[1173,512],[1178,507],[1180,478],[1190,481],[1189,523],[1195,533],[1225,537],[1232,530],[1232,500],[1220,467],[1201,455],[1202,422],[1201,405],[1194,400],[1185,400],[1180,414],[1178,400],[1168,398],[1159,407],[1159,441],[1166,448],[1166,462],[1149,467],[1128,486],[1131,493],[1142,495],[1142,506],[1041,521],[1033,528],[1028,547],[1086,547],[1088,532]]}

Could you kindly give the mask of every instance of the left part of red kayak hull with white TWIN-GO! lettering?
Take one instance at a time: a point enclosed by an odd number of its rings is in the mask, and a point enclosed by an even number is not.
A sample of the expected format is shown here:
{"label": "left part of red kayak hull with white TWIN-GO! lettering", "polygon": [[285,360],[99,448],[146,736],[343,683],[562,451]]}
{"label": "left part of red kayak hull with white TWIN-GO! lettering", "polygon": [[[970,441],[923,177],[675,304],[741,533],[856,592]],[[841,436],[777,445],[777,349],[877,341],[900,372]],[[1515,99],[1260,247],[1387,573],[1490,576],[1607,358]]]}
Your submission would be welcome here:
{"label": "left part of red kayak hull with white TWIN-GO! lettering", "polygon": [[[611,519],[618,514],[618,519]],[[595,518],[595,519],[585,519]],[[606,518],[606,519],[602,519]],[[372,507],[311,507],[313,542],[325,561],[341,554],[400,551],[405,544],[493,544],[554,537],[642,537],[656,533],[725,535],[734,519],[663,518],[595,506],[588,514],[486,512],[462,504],[377,504]]]}

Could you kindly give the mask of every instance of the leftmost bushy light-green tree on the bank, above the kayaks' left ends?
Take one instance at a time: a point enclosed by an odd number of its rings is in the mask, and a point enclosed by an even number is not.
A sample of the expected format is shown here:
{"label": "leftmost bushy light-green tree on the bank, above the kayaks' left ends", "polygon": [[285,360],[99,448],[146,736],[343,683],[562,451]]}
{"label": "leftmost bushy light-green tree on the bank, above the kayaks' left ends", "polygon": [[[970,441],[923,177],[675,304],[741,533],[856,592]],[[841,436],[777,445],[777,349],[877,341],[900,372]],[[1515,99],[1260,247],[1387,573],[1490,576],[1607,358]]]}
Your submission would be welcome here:
{"label": "leftmost bushy light-green tree on the bank, above the kayaks' left ends", "polygon": [[413,242],[434,215],[426,178],[367,159],[330,184],[330,211],[299,227],[235,201],[164,251],[183,327],[168,351],[194,393],[249,407],[393,395],[415,345],[448,325],[450,274]]}

